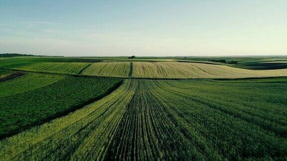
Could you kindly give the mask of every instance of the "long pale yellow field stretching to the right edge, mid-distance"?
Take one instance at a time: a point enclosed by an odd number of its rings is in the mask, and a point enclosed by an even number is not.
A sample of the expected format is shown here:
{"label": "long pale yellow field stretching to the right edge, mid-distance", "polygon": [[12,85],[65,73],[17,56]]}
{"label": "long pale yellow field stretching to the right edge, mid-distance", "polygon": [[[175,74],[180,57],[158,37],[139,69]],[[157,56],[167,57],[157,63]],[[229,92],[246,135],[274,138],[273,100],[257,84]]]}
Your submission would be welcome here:
{"label": "long pale yellow field stretching to the right edge, mid-distance", "polygon": [[287,69],[280,70],[246,70],[221,65],[176,62],[135,62],[134,78],[259,78],[287,76]]}

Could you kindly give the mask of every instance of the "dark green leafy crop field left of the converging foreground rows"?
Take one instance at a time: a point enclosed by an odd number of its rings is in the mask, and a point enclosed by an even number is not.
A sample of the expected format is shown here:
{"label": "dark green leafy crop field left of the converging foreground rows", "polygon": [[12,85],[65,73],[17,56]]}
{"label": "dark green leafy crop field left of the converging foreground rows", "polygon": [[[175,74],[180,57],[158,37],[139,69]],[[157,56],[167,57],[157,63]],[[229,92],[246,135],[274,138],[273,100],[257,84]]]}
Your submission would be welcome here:
{"label": "dark green leafy crop field left of the converging foreground rows", "polygon": [[[110,94],[123,80],[67,78],[0,99],[0,139],[67,115]],[[9,116],[9,117],[7,117]]]}

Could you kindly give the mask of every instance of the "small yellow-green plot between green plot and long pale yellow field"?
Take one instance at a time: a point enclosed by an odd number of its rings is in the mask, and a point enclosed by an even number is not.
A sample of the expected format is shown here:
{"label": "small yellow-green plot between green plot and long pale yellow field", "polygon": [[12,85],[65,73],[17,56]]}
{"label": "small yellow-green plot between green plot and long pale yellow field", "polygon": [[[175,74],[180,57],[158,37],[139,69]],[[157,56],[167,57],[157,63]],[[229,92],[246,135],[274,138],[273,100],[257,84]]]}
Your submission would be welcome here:
{"label": "small yellow-green plot between green plot and long pale yellow field", "polygon": [[129,62],[94,63],[86,68],[82,74],[92,76],[128,77]]}

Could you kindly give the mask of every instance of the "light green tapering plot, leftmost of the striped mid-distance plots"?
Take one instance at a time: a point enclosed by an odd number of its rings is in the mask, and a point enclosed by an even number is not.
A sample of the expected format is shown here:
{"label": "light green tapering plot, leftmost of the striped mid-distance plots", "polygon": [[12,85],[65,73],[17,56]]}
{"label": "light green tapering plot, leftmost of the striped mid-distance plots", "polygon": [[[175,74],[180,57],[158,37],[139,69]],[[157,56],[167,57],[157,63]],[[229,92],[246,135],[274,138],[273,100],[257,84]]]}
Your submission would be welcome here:
{"label": "light green tapering plot, leftmost of the striped mid-distance plots", "polygon": [[14,69],[35,72],[80,74],[89,65],[90,63],[36,63]]}

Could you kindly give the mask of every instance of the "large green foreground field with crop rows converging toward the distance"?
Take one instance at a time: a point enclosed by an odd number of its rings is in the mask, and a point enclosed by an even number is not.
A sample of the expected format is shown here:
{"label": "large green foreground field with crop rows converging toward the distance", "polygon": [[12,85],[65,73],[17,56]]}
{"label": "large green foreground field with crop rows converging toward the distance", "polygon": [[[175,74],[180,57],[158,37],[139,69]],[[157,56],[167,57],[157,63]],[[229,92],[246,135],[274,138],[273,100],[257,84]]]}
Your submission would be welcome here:
{"label": "large green foreground field with crop rows converging toward the distance", "polygon": [[3,160],[287,158],[287,79],[125,80],[0,141]]}

